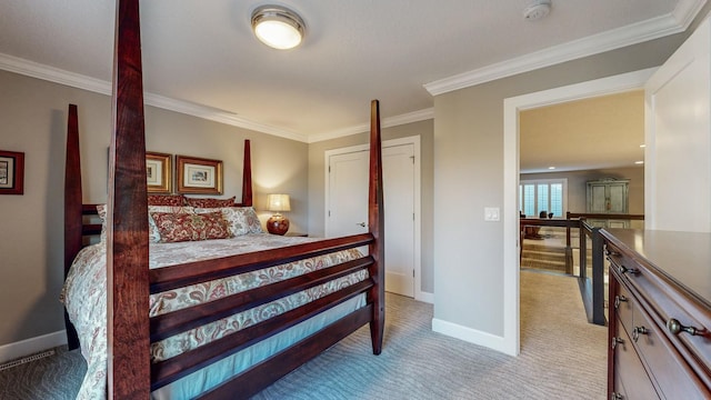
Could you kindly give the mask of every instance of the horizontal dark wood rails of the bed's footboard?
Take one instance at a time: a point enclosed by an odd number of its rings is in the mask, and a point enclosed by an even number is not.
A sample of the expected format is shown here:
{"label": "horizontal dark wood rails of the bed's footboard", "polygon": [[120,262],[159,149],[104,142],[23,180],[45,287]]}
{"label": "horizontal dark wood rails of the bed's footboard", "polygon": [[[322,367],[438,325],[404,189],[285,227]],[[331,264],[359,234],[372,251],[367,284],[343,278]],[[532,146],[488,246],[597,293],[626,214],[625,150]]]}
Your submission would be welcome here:
{"label": "horizontal dark wood rails of the bed's footboard", "polygon": [[[213,264],[211,268],[209,264],[214,263],[216,260],[160,268],[151,270],[151,293],[213,280],[216,277],[224,278],[228,276],[237,276],[340,250],[358,248],[369,244],[372,240],[374,239],[370,233],[356,234],[351,237],[227,257],[218,259],[217,267]],[[369,270],[374,263],[375,260],[371,256],[363,256],[358,259],[318,269],[268,286],[238,292],[219,300],[153,317],[150,319],[151,342],[157,342],[173,334],[178,334],[210,322],[219,321],[232,314],[296,294],[361,270]],[[180,283],[178,284],[177,282]],[[274,334],[294,327],[302,321],[341,304],[353,297],[362,293],[369,293],[374,286],[374,280],[372,278],[368,278],[354,284],[339,287],[337,291],[299,306],[292,310],[271,317],[270,319],[258,322],[223,338],[213,340],[208,344],[198,347],[182,354],[152,363],[151,390],[161,388],[257,342],[273,337]],[[331,340],[333,340],[332,343],[334,343],[340,340],[336,338],[342,338],[369,322],[371,316],[372,304],[368,304],[368,307],[364,307],[364,310],[361,309],[357,311],[353,317],[349,316],[343,318],[344,321],[337,321],[334,323],[336,327],[329,326],[324,328],[323,332],[318,333],[321,337],[321,339],[319,339],[320,344],[323,346],[323,343],[330,342]],[[327,329],[329,330],[327,331]],[[304,341],[298,342],[292,344],[291,348],[301,349],[304,343]],[[312,343],[311,348],[316,349],[314,346],[316,343]],[[292,349],[284,351],[297,350]],[[318,354],[318,352],[314,354]],[[300,363],[302,362],[303,360]],[[273,369],[274,367],[272,366],[271,368]],[[290,370],[291,369],[287,370],[284,373]],[[243,378],[238,377],[237,379],[240,380]],[[253,378],[251,378],[250,381]],[[273,380],[266,380],[266,382],[269,383],[272,381]],[[230,384],[233,383],[230,382]],[[243,388],[240,388],[239,392],[240,397],[246,396],[247,393]],[[232,396],[234,394],[234,392],[230,393]]]}

